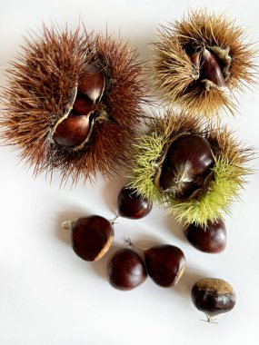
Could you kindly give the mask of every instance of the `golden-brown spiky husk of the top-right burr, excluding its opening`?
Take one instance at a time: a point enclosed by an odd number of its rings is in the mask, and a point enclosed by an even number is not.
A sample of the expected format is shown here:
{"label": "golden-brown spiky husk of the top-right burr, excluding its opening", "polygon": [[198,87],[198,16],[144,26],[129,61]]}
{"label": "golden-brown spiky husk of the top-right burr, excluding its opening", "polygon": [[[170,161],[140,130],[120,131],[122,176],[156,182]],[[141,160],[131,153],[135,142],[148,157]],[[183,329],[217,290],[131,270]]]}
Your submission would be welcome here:
{"label": "golden-brown spiky husk of the top-right burr, excluding its opening", "polygon": [[[243,91],[256,81],[257,66],[253,44],[245,43],[242,27],[224,15],[207,10],[191,11],[182,21],[162,26],[159,41],[154,44],[154,81],[156,88],[169,104],[184,107],[191,115],[207,117],[218,114],[220,108],[236,111],[235,91]],[[195,83],[194,65],[186,54],[186,47],[199,50],[203,45],[230,48],[230,76],[224,88],[205,89]]]}

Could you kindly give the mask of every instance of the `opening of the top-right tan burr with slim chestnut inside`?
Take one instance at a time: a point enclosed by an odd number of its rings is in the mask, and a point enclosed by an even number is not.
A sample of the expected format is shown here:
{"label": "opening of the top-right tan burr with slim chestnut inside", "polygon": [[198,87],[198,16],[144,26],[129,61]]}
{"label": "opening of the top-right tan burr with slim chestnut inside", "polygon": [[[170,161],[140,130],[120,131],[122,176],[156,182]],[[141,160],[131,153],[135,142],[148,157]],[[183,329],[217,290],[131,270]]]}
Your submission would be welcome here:
{"label": "opening of the top-right tan burr with slim chestnut inside", "polygon": [[230,75],[229,48],[203,46],[187,53],[194,66],[194,80],[202,83],[207,91],[211,87],[224,87]]}

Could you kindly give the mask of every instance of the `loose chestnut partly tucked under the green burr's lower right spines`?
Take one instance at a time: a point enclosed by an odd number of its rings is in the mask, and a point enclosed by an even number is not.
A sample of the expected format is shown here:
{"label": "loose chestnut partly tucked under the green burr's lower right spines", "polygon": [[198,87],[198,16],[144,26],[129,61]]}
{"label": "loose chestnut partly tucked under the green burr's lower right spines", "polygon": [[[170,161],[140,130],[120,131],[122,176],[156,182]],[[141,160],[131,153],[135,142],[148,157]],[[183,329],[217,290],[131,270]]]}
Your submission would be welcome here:
{"label": "loose chestnut partly tucked under the green burr's lower right spines", "polygon": [[194,223],[184,229],[187,240],[199,251],[218,253],[224,251],[226,232],[222,219],[208,222],[204,228]]}

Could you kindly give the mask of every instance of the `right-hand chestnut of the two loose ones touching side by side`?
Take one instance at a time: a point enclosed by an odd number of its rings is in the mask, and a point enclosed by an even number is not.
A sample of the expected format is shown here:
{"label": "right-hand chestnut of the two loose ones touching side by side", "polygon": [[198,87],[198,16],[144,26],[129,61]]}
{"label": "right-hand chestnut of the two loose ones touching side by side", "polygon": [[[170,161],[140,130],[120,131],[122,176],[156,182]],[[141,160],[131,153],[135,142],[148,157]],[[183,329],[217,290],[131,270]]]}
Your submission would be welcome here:
{"label": "right-hand chestnut of the two loose ones touching side by side", "polygon": [[144,262],[152,280],[165,288],[174,286],[184,273],[184,252],[170,244],[144,251]]}

